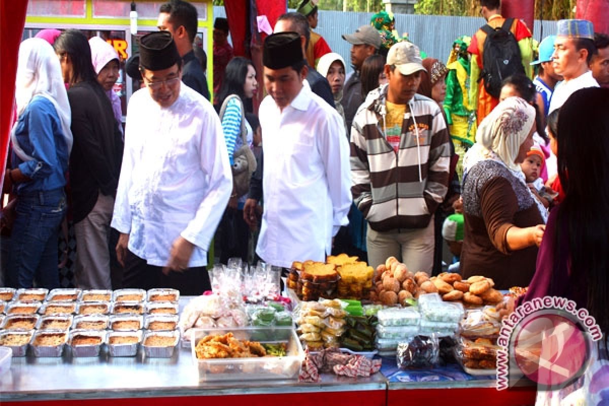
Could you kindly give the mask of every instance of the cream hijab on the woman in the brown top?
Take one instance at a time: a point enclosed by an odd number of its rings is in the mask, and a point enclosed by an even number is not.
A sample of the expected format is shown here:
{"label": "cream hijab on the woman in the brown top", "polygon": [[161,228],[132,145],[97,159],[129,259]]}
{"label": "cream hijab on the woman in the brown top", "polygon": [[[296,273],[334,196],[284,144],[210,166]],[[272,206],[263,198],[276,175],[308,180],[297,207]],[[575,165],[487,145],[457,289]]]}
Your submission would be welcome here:
{"label": "cream hijab on the woman in the brown top", "polygon": [[493,111],[482,120],[476,131],[476,144],[468,150],[463,158],[464,177],[477,163],[484,160],[492,160],[501,163],[512,174],[518,178],[541,214],[543,222],[547,222],[547,209],[533,195],[519,164],[514,161],[518,158],[520,145],[529,136],[530,130],[535,125],[535,108],[520,97],[508,97],[503,100]]}

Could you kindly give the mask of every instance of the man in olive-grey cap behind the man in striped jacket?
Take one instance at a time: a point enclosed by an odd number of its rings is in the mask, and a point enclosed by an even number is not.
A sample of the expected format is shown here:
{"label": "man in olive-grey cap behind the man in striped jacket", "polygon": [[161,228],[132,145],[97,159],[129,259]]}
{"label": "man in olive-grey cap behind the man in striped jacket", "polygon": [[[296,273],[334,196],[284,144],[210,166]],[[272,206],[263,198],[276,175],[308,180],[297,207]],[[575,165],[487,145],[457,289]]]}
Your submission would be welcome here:
{"label": "man in olive-grey cap behind the man in striped jacket", "polygon": [[347,128],[351,131],[351,123],[357,108],[364,102],[362,97],[362,81],[359,72],[362,70],[364,60],[370,55],[374,55],[381,47],[381,34],[375,27],[367,25],[361,26],[352,34],[343,34],[343,40],[351,44],[351,66],[354,72],[345,82],[343,88],[343,98],[340,103],[345,110],[345,121]]}

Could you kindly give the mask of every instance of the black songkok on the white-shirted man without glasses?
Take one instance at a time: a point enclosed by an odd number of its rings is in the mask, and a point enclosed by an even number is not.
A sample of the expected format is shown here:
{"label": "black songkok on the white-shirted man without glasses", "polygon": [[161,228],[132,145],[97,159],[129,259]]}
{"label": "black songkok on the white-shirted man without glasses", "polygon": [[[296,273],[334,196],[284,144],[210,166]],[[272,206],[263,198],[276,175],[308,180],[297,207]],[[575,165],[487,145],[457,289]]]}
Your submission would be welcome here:
{"label": "black songkok on the white-shirted man without glasses", "polygon": [[297,32],[279,32],[269,35],[262,48],[262,65],[269,69],[283,69],[305,59]]}

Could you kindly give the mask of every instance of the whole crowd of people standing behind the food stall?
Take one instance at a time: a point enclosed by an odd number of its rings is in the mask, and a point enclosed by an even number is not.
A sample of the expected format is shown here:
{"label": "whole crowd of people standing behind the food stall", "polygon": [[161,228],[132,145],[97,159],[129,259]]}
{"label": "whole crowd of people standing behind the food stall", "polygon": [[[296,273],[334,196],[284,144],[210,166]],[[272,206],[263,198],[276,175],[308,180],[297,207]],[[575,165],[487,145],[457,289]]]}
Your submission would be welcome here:
{"label": "whole crowd of people standing behind the food stall", "polygon": [[[350,75],[313,31],[309,0],[276,21],[262,72],[233,57],[218,18],[210,101],[193,48],[196,9],[172,0],[129,61],[143,86],[124,131],[113,47],[79,30],[23,41],[4,284],[59,286],[68,212],[83,289],[200,294],[214,236],[222,263],[287,268],[346,252],[373,267],[395,256],[429,274],[448,265],[445,239],[464,276],[487,275],[498,289],[563,289],[600,309],[609,228],[594,225],[607,222],[599,163],[609,127],[598,106],[609,90],[597,88],[609,86],[608,37],[589,21],[561,20],[536,46],[526,24],[501,16],[500,0],[479,7],[488,24],[457,38],[446,64],[422,58],[392,15],[376,14],[343,35]],[[501,52],[516,63],[489,66]],[[267,96],[253,114],[260,77]],[[575,275],[586,282],[569,283]],[[607,327],[606,315],[597,321]]]}

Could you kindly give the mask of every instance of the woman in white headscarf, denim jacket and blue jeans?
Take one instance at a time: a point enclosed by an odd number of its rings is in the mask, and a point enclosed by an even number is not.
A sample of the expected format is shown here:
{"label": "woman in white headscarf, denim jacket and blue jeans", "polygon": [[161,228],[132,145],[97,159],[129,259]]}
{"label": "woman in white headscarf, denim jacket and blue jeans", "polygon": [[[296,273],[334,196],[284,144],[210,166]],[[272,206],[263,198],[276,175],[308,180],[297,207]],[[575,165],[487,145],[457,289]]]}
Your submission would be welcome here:
{"label": "woman in white headscarf, denim jacket and blue jeans", "polygon": [[11,131],[11,169],[4,183],[16,191],[8,284],[59,287],[57,231],[66,211],[65,172],[72,149],[70,106],[52,46],[30,38],[19,46],[15,84],[18,121]]}

